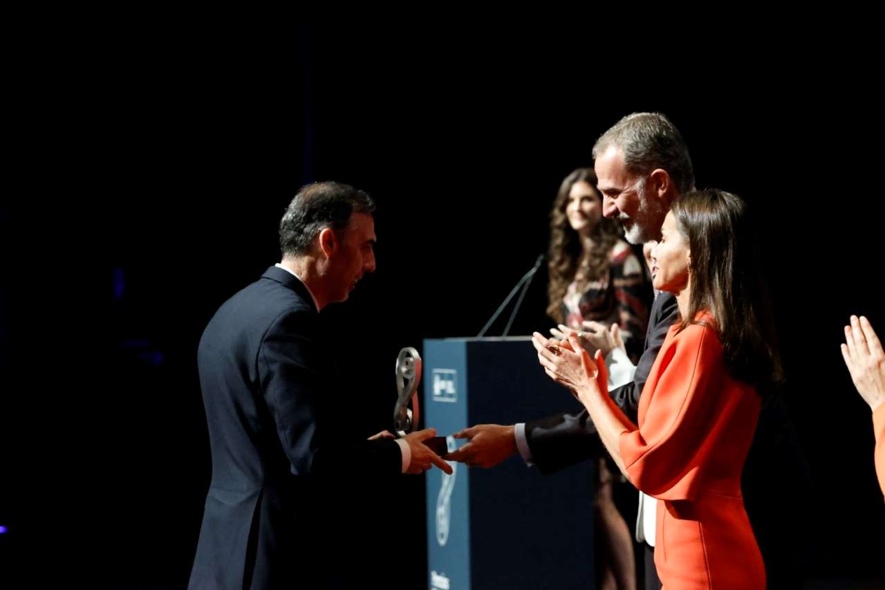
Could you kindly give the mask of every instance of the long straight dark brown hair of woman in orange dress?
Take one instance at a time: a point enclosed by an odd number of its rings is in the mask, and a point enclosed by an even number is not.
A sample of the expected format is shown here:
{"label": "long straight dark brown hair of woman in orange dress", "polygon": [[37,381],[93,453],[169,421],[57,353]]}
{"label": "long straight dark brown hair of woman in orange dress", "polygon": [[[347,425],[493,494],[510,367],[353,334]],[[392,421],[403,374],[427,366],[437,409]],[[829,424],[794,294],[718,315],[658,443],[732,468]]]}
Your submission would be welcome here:
{"label": "long straight dark brown hair of woman in orange dress", "polygon": [[680,330],[695,323],[699,312],[711,312],[729,374],[757,388],[781,382],[758,229],[747,204],[707,189],[682,195],[671,211],[693,254],[689,313]]}

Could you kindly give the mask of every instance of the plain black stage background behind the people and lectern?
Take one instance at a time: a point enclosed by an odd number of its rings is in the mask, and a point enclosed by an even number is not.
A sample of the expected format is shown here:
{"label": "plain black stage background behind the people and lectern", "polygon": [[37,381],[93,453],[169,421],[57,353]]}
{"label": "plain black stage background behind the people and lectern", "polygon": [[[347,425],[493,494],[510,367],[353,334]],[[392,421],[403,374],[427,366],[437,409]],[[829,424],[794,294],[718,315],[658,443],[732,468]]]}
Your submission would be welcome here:
{"label": "plain black stage background behind the people and lectern", "polygon": [[[300,185],[349,182],[379,205],[377,272],[324,312],[353,365],[345,423],[368,435],[389,420],[399,348],[474,336],[545,251],[560,180],[639,110],[681,129],[698,187],[764,213],[787,400],[816,485],[796,499],[797,535],[815,546],[812,578],[881,576],[870,414],[839,352],[851,313],[885,335],[868,47],[628,55],[558,35],[356,27],[226,49],[139,38],[52,52],[20,89],[11,163],[24,177],[2,220],[0,551],[29,579],[186,585],[210,477],[196,343],[279,260],[276,225]],[[512,333],[550,327],[545,282]],[[330,586],[425,586],[422,478],[354,481],[321,509],[318,542],[346,566]],[[412,527],[396,526],[400,509]]]}

